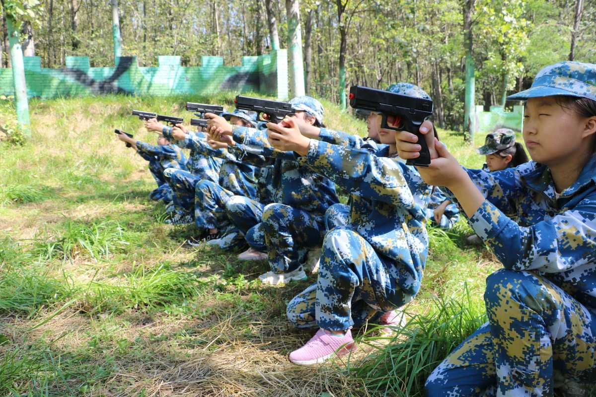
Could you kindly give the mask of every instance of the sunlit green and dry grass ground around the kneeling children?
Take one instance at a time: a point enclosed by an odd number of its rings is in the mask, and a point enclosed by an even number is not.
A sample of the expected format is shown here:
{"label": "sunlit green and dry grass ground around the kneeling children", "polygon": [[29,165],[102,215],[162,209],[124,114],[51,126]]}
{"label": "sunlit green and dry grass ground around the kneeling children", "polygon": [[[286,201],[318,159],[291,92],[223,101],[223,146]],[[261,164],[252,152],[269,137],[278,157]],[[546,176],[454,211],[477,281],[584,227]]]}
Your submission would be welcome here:
{"label": "sunlit green and dry grass ground around the kneeling children", "polygon": [[[410,339],[378,349],[389,341],[364,335],[370,347],[349,367],[291,365],[288,353],[311,335],[288,326],[285,306],[315,277],[263,286],[266,264],[182,246],[195,230],[163,224],[164,206],[147,198],[147,163],[112,132],[155,142],[132,109],[188,119],[186,101],[230,107],[233,98],[30,102],[33,139],[0,142],[0,395],[360,396],[408,387],[415,395],[433,362],[474,327],[485,277],[499,265],[485,248],[465,246],[471,230],[461,221],[448,233],[429,230],[423,287],[407,309]],[[364,135],[363,121],[323,104],[328,126]],[[0,103],[0,118],[12,111]],[[460,134],[440,136],[462,164],[482,165]],[[466,308],[456,305],[462,296]],[[446,312],[467,308],[460,333],[440,327]],[[420,346],[436,350],[420,361]],[[411,384],[387,377],[416,360]]]}

